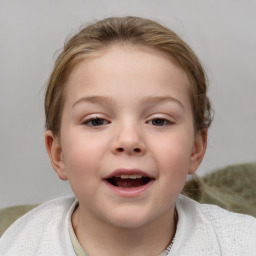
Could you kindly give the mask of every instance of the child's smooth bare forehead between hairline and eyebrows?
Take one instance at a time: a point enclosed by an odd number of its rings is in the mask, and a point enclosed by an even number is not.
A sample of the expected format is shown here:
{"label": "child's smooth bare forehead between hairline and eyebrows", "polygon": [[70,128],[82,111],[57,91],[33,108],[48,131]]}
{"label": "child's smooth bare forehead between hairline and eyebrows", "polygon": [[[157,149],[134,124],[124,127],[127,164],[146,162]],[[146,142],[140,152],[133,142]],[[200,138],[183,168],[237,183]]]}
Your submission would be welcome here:
{"label": "child's smooth bare forehead between hairline and eyebrows", "polygon": [[87,93],[111,96],[113,90],[121,93],[124,89],[144,96],[149,89],[157,95],[167,88],[175,89],[174,94],[188,94],[188,87],[185,72],[166,54],[148,47],[113,44],[75,65],[66,82],[65,101]]}

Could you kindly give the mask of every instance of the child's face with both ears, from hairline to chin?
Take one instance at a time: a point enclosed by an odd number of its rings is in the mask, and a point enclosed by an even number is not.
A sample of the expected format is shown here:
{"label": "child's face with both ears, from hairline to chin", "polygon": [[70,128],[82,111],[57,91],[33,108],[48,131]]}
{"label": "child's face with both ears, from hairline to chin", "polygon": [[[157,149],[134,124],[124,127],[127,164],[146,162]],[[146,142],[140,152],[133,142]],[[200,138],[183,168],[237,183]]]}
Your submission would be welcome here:
{"label": "child's face with both ears, from hairline to chin", "polygon": [[50,132],[46,143],[81,213],[139,227],[173,212],[205,150],[188,86],[182,69],[147,48],[114,45],[75,66],[60,144]]}

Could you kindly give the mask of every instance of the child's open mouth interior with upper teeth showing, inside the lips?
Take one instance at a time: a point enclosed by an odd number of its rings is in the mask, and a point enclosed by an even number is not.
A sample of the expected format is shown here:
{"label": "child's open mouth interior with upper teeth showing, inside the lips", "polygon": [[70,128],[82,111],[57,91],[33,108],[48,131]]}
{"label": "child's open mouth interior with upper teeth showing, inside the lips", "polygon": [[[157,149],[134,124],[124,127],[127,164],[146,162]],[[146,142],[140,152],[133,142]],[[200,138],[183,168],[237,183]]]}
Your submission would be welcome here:
{"label": "child's open mouth interior with upper teeth showing, inside the lips", "polygon": [[122,174],[107,178],[106,181],[119,188],[136,188],[148,184],[152,178],[137,174]]}

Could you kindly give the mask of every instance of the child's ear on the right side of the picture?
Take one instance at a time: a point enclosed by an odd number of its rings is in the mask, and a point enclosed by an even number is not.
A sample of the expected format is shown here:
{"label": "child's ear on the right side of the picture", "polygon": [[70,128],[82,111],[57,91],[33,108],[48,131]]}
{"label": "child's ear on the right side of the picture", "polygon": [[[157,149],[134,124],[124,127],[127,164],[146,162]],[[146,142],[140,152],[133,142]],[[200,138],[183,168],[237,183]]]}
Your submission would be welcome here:
{"label": "child's ear on the right side of the picture", "polygon": [[204,158],[207,146],[207,130],[197,133],[190,158],[190,168],[188,173],[193,174]]}

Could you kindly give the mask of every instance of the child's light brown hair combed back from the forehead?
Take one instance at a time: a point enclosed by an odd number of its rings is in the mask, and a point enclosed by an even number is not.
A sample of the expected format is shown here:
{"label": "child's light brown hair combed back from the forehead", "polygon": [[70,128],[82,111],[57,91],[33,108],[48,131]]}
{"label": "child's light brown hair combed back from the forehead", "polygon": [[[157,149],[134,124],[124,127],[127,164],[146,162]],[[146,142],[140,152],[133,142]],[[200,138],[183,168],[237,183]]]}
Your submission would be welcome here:
{"label": "child's light brown hair combed back from the forehead", "polygon": [[83,28],[65,43],[47,84],[47,130],[59,135],[65,100],[65,81],[74,65],[114,42],[150,47],[175,60],[185,71],[190,82],[195,129],[197,132],[205,132],[212,120],[211,105],[206,95],[206,76],[197,56],[173,31],[157,22],[139,17],[107,18],[98,21]]}

